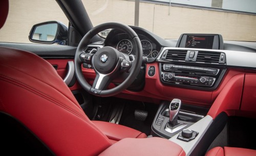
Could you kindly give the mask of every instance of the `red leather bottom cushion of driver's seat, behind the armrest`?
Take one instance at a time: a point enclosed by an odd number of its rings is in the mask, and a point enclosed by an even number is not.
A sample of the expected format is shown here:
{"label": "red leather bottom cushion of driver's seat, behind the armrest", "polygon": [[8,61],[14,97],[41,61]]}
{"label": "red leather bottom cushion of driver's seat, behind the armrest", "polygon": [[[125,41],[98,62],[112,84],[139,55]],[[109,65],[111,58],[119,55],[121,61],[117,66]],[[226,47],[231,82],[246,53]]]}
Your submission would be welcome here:
{"label": "red leather bottom cushion of driver's seat, behind the armrest", "polygon": [[115,123],[92,121],[112,143],[124,138],[146,138],[145,133],[135,130],[130,127],[122,126]]}

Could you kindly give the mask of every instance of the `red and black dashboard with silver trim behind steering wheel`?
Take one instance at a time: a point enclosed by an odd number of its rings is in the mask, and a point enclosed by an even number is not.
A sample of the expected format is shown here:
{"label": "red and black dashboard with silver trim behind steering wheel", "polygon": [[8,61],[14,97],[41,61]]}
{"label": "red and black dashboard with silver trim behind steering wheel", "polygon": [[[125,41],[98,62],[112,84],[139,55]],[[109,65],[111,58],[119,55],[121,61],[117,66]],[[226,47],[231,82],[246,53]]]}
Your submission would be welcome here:
{"label": "red and black dashboard with silver trim behind steering wheel", "polygon": [[[147,57],[142,74],[136,78],[140,83],[135,86],[143,85],[117,97],[155,103],[178,97],[186,104],[210,107],[234,76],[245,78],[253,73],[256,78],[255,42],[224,41],[221,34],[181,34],[179,39],[163,39],[143,28],[131,28]],[[134,56],[132,40],[119,30],[113,29],[104,41],[91,43],[86,52],[104,46]]]}

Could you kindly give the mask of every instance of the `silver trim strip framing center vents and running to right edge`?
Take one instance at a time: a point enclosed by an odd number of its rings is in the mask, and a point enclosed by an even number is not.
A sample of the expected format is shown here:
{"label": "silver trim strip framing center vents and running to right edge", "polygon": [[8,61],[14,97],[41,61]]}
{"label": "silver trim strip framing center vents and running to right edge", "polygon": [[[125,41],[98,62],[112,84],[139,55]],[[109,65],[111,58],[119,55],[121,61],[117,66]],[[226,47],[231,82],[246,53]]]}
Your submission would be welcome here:
{"label": "silver trim strip framing center vents and running to right edge", "polygon": [[[252,53],[252,52],[164,47],[160,52],[160,55],[157,57],[157,61],[159,62],[167,61],[167,60],[161,60],[161,56],[163,55],[163,52],[165,50],[187,50],[187,51],[193,50],[193,51],[221,52],[221,53],[225,53],[226,55],[226,65],[256,68],[256,63],[255,63],[256,53]],[[186,62],[189,62],[189,61],[186,61]],[[202,64],[199,62],[195,62],[195,63]]]}

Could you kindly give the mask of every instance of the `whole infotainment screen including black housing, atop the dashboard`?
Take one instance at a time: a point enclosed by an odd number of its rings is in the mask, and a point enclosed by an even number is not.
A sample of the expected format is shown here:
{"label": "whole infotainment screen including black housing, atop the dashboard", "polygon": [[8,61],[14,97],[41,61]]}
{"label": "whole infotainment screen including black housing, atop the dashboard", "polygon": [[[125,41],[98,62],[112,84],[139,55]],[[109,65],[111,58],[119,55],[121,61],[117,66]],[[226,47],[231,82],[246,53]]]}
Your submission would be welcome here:
{"label": "whole infotainment screen including black housing, atop the dashboard", "polygon": [[176,47],[220,50],[224,48],[221,34],[181,34]]}

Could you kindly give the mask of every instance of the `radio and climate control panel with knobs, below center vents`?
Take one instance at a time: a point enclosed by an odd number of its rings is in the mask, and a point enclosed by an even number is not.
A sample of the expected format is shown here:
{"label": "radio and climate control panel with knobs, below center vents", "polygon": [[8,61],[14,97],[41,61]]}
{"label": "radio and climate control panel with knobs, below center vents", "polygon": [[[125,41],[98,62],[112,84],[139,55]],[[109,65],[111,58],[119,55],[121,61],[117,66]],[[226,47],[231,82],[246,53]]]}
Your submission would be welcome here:
{"label": "radio and climate control panel with knobs, below center vents", "polygon": [[202,90],[214,90],[220,83],[225,71],[226,69],[213,66],[160,63],[162,83],[202,88]]}

